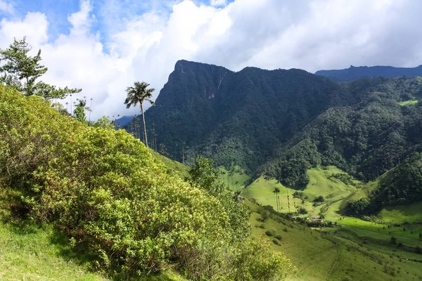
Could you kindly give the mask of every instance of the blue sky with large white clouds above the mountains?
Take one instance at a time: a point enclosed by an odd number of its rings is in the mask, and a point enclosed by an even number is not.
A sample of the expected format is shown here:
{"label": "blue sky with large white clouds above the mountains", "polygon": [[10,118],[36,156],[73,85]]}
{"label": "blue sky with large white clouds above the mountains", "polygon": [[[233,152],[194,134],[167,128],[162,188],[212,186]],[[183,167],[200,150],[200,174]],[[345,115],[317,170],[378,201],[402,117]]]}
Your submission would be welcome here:
{"label": "blue sky with large white clouds above the mountains", "polygon": [[139,113],[123,104],[127,86],[146,81],[156,98],[181,59],[234,71],[421,65],[421,13],[417,0],[0,0],[0,48],[26,36],[43,81],[82,88],[73,101],[113,119]]}

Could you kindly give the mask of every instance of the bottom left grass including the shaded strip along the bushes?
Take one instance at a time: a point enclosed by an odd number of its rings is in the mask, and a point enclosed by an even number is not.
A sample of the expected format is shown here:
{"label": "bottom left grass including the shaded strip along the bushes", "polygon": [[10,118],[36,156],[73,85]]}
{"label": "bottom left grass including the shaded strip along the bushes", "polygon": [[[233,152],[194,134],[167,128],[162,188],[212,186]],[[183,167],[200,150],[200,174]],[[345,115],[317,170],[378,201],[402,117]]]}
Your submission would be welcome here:
{"label": "bottom left grass including the shaded strip along the bushes", "polygon": [[[72,247],[68,237],[49,224],[16,218],[11,209],[20,192],[0,185],[0,280],[122,280],[96,268],[85,247]],[[172,271],[131,277],[140,281],[183,281]]]}

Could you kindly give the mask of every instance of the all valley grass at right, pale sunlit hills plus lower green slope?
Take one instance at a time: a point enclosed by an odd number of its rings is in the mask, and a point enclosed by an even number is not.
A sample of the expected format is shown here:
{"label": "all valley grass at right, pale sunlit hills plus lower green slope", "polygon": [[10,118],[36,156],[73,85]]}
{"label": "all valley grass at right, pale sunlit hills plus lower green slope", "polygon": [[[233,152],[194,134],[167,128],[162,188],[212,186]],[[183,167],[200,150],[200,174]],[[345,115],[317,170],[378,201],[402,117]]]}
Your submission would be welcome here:
{"label": "all valley grass at right, pale sunlit hills plus lower green slope", "polygon": [[[373,222],[343,216],[342,209],[347,202],[367,197],[380,178],[388,174],[364,185],[354,179],[343,179],[343,183],[333,177],[340,173],[343,171],[333,166],[307,171],[309,184],[300,190],[305,200],[302,204],[302,200],[294,199],[296,205],[307,209],[307,216],[324,214],[325,220],[337,223],[337,227],[312,230],[274,215],[262,223],[260,215],[254,213],[250,220],[252,235],[265,235],[269,229],[281,235],[280,245],[273,243],[272,247],[286,254],[298,268],[288,280],[422,280],[422,255],[411,252],[411,249],[422,247],[418,238],[418,233],[422,232],[422,224],[418,224],[422,202],[386,207],[373,217]],[[274,179],[257,178],[243,190],[243,195],[276,209],[275,187],[281,191],[281,212],[288,211],[287,193],[293,211],[291,195],[295,190]],[[314,206],[312,200],[319,195],[324,196],[325,202]],[[393,225],[406,221],[406,225]],[[395,244],[391,242],[392,236],[397,238]],[[400,247],[399,243],[404,246]]]}

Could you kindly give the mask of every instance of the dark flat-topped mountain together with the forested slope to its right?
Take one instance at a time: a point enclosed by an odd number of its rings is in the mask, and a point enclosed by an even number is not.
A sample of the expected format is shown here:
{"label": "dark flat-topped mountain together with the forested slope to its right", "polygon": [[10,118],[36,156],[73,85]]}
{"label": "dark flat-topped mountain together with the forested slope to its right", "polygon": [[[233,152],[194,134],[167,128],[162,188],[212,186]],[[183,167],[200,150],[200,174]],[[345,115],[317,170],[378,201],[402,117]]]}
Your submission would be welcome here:
{"label": "dark flat-topped mountain together with the forested slope to its right", "polygon": [[232,72],[181,60],[146,122],[172,159],[203,155],[241,166],[251,181],[266,175],[304,188],[312,167],[337,166],[368,182],[422,152],[418,100],[420,77],[339,84],[303,70]]}

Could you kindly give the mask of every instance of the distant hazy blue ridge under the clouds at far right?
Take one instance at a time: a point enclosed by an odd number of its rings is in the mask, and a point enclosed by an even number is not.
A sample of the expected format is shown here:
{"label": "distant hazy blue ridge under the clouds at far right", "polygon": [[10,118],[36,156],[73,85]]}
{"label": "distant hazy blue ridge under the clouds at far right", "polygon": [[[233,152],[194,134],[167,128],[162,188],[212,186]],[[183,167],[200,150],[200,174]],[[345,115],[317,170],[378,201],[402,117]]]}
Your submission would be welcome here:
{"label": "distant hazy blue ridge under the clouds at far right", "polygon": [[360,66],[350,65],[344,70],[319,70],[316,75],[321,75],[333,79],[334,81],[354,81],[370,77],[415,77],[422,76],[422,65],[418,67],[392,67],[392,66]]}

